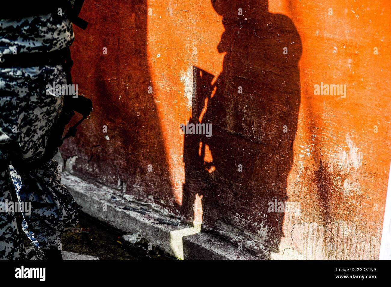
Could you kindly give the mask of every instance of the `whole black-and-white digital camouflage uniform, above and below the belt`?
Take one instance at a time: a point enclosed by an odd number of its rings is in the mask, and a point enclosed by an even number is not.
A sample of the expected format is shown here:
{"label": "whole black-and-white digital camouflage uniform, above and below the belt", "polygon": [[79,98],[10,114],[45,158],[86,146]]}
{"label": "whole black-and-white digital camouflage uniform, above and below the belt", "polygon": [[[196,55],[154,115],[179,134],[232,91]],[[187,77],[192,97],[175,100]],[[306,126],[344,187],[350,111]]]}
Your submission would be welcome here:
{"label": "whole black-and-white digital camouflage uniform, above and below the belt", "polygon": [[[72,24],[65,15],[48,14],[18,20],[0,20],[0,53],[50,52],[70,46]],[[66,84],[63,66],[0,68],[0,203],[31,203],[23,213],[22,229],[39,248],[61,247],[66,227],[77,224],[80,208],[61,184],[57,162],[33,170],[10,165],[9,147],[20,148],[27,163],[39,159],[61,111],[63,96],[46,93],[46,85]],[[12,182],[10,181],[12,178]],[[23,259],[25,251],[14,212],[0,212],[0,259]]]}

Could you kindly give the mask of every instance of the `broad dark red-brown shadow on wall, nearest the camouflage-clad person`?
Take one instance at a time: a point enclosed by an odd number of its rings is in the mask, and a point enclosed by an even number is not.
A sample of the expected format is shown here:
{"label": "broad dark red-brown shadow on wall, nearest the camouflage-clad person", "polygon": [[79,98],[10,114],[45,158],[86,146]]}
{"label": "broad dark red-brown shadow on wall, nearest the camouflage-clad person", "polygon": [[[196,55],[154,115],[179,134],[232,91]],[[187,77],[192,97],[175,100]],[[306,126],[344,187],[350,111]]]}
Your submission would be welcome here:
{"label": "broad dark red-brown shadow on wall, nearest the camouflage-clad person", "polygon": [[139,199],[153,190],[155,199],[173,206],[147,62],[147,2],[90,1],[83,13],[90,24],[85,31],[75,28],[72,74],[80,93],[92,99],[94,111],[61,149],[63,156],[78,155],[74,174],[85,180]]}

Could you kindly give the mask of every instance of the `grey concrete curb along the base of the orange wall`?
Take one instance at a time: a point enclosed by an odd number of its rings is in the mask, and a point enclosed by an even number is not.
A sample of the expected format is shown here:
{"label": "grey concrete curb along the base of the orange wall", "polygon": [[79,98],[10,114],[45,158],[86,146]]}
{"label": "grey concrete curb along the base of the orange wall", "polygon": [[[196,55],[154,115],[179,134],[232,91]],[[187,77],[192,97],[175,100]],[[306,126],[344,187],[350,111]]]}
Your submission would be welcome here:
{"label": "grey concrete curb along the base of the orange wall", "polygon": [[62,173],[62,183],[85,213],[125,232],[138,234],[179,259],[260,259],[217,235],[200,232],[200,227],[188,226],[179,219],[125,200],[104,185],[90,184],[67,172]]}

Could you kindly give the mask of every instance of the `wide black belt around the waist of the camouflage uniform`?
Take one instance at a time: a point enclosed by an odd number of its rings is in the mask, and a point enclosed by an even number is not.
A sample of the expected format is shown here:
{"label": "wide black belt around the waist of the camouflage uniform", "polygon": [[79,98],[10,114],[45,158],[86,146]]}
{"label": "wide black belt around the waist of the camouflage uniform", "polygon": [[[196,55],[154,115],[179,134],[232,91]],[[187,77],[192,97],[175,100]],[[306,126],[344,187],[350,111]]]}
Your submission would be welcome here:
{"label": "wide black belt around the waist of the camouflage uniform", "polygon": [[71,64],[69,47],[52,52],[0,54],[0,68],[29,68]]}

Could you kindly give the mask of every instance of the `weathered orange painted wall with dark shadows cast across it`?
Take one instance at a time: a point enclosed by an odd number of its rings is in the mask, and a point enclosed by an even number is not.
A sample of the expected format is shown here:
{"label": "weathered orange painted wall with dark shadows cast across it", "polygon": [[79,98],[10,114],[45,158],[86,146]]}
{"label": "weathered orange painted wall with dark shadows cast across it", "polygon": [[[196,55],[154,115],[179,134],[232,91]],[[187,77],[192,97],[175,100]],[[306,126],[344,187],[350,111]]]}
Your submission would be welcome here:
{"label": "weathered orange painted wall with dark shadows cast across it", "polygon": [[[63,156],[74,175],[260,256],[377,259],[390,9],[386,0],[88,1],[72,73],[94,112]],[[181,134],[187,122],[211,124],[212,136]]]}

